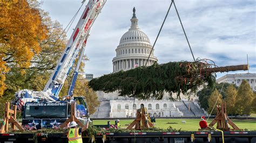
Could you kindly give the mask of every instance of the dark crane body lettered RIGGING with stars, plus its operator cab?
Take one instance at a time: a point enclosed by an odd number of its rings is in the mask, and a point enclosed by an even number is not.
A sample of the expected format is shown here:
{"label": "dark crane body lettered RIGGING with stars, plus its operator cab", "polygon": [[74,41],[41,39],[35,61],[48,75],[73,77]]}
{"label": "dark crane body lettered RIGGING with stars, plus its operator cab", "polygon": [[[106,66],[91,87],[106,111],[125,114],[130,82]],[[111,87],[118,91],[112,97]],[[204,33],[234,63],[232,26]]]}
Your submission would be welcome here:
{"label": "dark crane body lettered RIGGING with stars, plus its operator cab", "polygon": [[[73,97],[76,104],[76,117],[85,124],[89,116],[88,106],[83,96]],[[71,102],[73,102],[71,101]],[[22,110],[22,127],[26,130],[41,128],[58,129],[71,114],[71,102],[27,102]]]}

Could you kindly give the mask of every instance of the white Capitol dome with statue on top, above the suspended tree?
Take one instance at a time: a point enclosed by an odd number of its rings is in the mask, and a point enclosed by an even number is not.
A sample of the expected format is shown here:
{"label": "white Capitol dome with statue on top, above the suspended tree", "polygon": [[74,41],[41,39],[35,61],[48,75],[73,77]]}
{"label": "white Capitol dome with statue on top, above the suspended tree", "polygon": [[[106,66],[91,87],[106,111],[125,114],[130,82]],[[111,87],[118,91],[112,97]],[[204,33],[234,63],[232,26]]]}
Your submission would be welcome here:
{"label": "white Capitol dome with statue on top, above the suspended tree", "polygon": [[[133,8],[131,27],[124,33],[116,48],[116,57],[112,60],[113,72],[144,66],[152,49],[149,37],[138,26],[135,12]],[[153,49],[146,66],[151,66],[157,61]]]}

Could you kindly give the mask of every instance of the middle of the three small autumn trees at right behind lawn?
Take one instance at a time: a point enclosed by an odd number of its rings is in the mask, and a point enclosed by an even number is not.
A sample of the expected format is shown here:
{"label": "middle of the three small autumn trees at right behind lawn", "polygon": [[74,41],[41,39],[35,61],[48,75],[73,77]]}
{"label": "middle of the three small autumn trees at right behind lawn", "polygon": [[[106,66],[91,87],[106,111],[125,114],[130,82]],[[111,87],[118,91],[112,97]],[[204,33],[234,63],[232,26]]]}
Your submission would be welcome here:
{"label": "middle of the three small autumn trees at right behind lawn", "polygon": [[226,89],[226,109],[227,113],[231,114],[231,117],[233,118],[233,115],[237,113],[237,107],[235,104],[237,103],[237,89],[233,85],[230,85]]}

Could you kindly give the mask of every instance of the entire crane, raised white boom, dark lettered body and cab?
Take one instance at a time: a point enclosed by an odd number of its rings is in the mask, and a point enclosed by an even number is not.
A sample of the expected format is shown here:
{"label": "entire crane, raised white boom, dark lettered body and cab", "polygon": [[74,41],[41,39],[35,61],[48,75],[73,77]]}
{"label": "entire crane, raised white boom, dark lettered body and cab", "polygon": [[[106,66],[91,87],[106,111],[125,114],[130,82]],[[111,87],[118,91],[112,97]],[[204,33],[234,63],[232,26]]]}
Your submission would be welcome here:
{"label": "entire crane, raised white boom, dark lettered body and cab", "polygon": [[[84,2],[85,0],[82,3]],[[71,110],[75,110],[75,116],[83,124],[89,119],[89,109],[85,98],[72,95],[91,26],[105,2],[106,0],[89,0],[43,91],[24,89],[15,93],[16,100],[12,104],[17,104],[17,109],[22,111],[22,127],[26,130],[60,128],[60,125],[71,116]],[[78,62],[69,91],[65,99],[61,101],[58,96],[59,92],[77,58]],[[75,104],[75,109],[71,107],[71,102]]]}

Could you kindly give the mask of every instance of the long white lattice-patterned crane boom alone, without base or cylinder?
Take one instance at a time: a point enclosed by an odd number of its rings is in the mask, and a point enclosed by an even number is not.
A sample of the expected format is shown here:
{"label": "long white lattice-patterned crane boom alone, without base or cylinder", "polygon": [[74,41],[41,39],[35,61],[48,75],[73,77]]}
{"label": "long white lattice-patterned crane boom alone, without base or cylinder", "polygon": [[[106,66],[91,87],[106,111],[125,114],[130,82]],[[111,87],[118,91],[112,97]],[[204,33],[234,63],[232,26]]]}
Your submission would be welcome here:
{"label": "long white lattice-patterned crane boom alone, without base or cylinder", "polygon": [[43,91],[50,91],[53,99],[58,99],[60,89],[68,76],[73,63],[75,62],[78,52],[85,46],[85,41],[89,36],[92,24],[95,22],[100,10],[102,10],[105,0],[89,0],[83,15],[80,17],[75,30],[73,31],[65,52],[59,59],[55,70]]}

